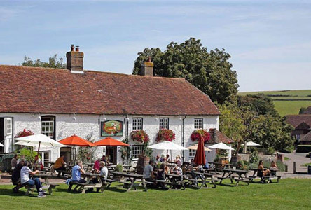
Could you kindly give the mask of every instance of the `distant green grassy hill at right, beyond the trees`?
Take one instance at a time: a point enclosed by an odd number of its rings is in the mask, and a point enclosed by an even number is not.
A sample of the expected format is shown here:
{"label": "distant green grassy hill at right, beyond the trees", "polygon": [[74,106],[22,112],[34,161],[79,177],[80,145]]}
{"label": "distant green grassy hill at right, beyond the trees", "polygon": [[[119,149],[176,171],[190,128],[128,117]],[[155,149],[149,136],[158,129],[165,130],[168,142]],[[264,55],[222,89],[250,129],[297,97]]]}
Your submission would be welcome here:
{"label": "distant green grassy hill at right, beyond the trees", "polygon": [[311,106],[311,90],[279,90],[260,92],[239,92],[239,95],[265,94],[271,97],[275,104],[275,109],[280,116],[295,115],[303,106]]}

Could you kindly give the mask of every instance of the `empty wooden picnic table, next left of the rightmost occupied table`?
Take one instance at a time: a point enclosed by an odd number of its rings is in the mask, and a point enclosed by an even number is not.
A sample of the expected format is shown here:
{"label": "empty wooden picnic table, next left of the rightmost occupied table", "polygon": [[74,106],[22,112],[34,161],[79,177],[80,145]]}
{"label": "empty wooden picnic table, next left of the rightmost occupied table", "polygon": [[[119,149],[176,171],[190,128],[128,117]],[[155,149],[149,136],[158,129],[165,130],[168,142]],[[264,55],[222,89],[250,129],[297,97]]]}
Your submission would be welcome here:
{"label": "empty wooden picnic table, next left of the rightmost occupied table", "polygon": [[[223,179],[230,179],[231,183],[233,183],[233,180],[235,181],[235,186],[238,186],[240,182],[246,182],[247,185],[249,185],[247,171],[239,169],[221,169],[221,171],[223,172],[223,175],[217,178],[220,180],[220,184],[222,183]],[[226,176],[227,173],[228,175]],[[237,174],[237,177],[233,176],[234,174]]]}

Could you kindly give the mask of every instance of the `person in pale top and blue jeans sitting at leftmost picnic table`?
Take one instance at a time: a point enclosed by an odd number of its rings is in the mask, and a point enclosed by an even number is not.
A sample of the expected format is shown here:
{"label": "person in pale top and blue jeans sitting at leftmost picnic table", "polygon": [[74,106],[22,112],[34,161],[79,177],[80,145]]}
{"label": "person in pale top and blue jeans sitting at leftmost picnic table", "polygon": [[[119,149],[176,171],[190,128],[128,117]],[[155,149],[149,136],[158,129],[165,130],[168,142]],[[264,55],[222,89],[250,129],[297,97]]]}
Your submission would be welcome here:
{"label": "person in pale top and blue jeans sitting at leftmost picnic table", "polygon": [[36,178],[29,178],[29,174],[39,174],[39,170],[36,170],[34,172],[32,172],[32,170],[29,169],[29,162],[26,162],[25,165],[22,167],[22,169],[20,170],[20,181],[22,183],[22,185],[29,185],[29,186],[34,186],[36,185],[36,191],[38,192],[38,197],[46,197],[46,192],[42,190],[42,185],[41,185],[41,181],[38,177]]}

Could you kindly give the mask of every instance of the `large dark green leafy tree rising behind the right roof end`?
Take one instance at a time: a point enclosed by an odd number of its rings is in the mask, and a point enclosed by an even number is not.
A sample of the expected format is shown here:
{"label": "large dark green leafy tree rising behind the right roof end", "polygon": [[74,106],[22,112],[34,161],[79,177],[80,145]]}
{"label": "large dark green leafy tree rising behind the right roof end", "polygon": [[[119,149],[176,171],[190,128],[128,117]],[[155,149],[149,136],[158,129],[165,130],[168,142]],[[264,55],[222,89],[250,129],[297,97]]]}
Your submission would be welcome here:
{"label": "large dark green leafy tree rising behind the right roof end", "polygon": [[151,57],[154,76],[185,78],[219,104],[236,99],[237,73],[224,49],[207,52],[200,39],[189,38],[181,44],[171,42],[164,52],[145,48],[138,55],[132,74],[141,75],[141,63]]}

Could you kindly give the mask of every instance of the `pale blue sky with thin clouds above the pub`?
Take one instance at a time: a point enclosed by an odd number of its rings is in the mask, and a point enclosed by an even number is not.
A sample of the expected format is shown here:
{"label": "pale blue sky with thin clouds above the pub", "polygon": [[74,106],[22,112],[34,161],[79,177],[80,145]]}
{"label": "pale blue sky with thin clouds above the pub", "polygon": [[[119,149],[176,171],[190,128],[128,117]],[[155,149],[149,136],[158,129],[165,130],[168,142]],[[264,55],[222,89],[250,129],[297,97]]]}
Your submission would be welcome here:
{"label": "pale blue sky with thin clouds above the pub", "polygon": [[65,58],[75,44],[84,69],[131,74],[144,48],[194,37],[231,55],[240,92],[311,89],[310,20],[299,0],[0,0],[0,64]]}

